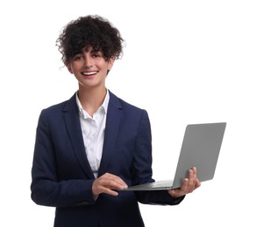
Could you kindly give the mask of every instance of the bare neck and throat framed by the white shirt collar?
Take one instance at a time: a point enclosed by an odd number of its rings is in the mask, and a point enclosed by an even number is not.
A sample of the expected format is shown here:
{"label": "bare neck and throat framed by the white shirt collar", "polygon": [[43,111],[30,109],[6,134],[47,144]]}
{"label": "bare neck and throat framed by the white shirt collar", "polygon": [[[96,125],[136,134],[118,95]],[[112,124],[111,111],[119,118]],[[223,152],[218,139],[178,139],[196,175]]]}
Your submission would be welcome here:
{"label": "bare neck and throat framed by the white shirt collar", "polygon": [[98,108],[103,104],[107,89],[79,89],[78,98],[82,108],[90,115],[96,113]]}

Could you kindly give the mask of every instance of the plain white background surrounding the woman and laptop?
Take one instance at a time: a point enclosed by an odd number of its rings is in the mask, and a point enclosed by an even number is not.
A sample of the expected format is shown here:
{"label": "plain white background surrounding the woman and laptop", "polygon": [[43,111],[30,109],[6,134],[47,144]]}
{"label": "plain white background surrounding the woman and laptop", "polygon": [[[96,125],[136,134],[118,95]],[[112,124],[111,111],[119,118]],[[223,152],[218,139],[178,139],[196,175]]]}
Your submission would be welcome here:
{"label": "plain white background surrounding the woman and laptop", "polygon": [[226,121],[215,178],[178,206],[140,205],[146,227],[255,226],[255,1],[2,1],[0,226],[53,226],[30,198],[39,112],[77,89],[55,46],[70,20],[99,14],[126,41],[110,91],[146,108],[153,176],[174,175],[188,123]]}

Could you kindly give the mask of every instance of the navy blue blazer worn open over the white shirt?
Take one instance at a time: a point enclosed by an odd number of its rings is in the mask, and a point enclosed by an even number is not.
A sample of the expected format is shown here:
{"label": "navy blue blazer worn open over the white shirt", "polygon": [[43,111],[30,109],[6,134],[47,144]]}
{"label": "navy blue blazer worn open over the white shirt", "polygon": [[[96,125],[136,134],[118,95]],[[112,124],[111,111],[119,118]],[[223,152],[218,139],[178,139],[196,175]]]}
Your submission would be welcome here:
{"label": "navy blue blazer worn open over the white shirt", "polygon": [[[146,110],[110,93],[98,175],[120,176],[127,185],[153,182],[152,138]],[[181,203],[167,191],[120,191],[95,200],[75,95],[42,110],[32,162],[32,200],[56,207],[54,227],[141,227],[139,203]],[[139,202],[139,203],[138,203]]]}

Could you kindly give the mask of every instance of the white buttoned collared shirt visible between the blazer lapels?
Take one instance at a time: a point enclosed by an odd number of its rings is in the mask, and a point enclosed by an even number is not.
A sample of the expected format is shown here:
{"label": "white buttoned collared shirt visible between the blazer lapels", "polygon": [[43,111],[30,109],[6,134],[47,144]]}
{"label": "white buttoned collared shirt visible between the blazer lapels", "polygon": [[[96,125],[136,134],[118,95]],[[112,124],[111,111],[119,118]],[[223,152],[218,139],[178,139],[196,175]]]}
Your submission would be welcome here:
{"label": "white buttoned collared shirt visible between the blazer lapels", "polygon": [[98,170],[103,155],[103,142],[109,100],[110,94],[107,90],[107,94],[103,100],[102,106],[99,107],[96,113],[91,117],[82,108],[81,102],[76,93],[76,104],[80,115],[83,143],[90,168],[92,169],[95,177],[98,175]]}

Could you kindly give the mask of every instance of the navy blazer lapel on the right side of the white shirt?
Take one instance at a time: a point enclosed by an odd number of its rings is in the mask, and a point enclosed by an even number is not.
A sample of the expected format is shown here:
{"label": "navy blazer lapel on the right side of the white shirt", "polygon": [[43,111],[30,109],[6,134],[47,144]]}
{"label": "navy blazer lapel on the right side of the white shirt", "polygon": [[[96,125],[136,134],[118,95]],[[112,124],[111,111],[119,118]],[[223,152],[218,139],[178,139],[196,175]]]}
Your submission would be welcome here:
{"label": "navy blazer lapel on the right side of the white shirt", "polygon": [[117,97],[110,93],[110,102],[107,112],[105,136],[103,144],[103,155],[98,175],[103,175],[110,164],[111,156],[115,151],[117,135],[122,117],[122,107]]}

